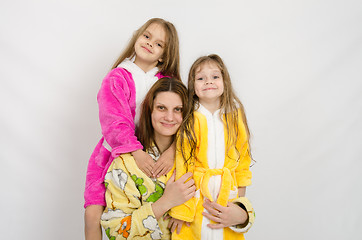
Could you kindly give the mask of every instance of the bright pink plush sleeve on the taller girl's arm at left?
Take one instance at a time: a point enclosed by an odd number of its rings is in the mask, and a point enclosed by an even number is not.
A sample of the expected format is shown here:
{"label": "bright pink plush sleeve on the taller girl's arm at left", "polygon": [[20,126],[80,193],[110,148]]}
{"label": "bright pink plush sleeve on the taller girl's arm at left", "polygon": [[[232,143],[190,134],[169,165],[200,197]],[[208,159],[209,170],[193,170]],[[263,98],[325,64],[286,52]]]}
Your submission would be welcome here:
{"label": "bright pink plush sleeve on the taller girl's arm at left", "polygon": [[98,92],[102,134],[112,148],[112,156],[142,149],[135,136],[135,86],[130,73],[113,69]]}

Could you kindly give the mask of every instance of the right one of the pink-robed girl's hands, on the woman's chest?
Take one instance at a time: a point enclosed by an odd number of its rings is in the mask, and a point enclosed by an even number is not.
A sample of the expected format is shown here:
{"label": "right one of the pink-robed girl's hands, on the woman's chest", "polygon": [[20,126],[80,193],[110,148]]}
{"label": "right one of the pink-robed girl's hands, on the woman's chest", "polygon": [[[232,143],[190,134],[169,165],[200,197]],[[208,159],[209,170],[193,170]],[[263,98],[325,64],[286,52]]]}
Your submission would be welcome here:
{"label": "right one of the pink-robed girl's hands, on the woman's chest", "polygon": [[161,154],[155,166],[152,169],[154,177],[166,175],[173,167],[175,162],[175,143],[173,143],[165,152]]}

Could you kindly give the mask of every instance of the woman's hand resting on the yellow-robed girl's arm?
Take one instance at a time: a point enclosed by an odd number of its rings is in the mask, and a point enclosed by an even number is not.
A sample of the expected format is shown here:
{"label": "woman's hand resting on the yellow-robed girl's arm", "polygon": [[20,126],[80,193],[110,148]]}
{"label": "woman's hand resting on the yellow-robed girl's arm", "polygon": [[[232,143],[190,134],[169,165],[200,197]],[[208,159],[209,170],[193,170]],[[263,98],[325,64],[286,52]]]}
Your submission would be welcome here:
{"label": "woman's hand resting on the yellow-robed girl's arm", "polygon": [[165,191],[161,198],[167,202],[169,209],[183,204],[195,195],[195,182],[193,179],[185,182],[192,176],[191,172],[185,173],[175,181],[175,172],[166,183]]}

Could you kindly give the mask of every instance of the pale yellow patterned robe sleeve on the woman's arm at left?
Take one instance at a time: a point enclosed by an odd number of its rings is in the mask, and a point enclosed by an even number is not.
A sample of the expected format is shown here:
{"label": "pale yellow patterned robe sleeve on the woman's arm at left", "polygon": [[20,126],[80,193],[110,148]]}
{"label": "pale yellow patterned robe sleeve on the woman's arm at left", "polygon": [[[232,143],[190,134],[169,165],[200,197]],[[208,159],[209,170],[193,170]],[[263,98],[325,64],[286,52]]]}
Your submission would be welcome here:
{"label": "pale yellow patterned robe sleeve on the woman's arm at left", "polygon": [[107,207],[101,225],[109,239],[153,239],[162,235],[152,203],[142,204],[140,190],[126,170],[122,156],[109,167],[105,185]]}

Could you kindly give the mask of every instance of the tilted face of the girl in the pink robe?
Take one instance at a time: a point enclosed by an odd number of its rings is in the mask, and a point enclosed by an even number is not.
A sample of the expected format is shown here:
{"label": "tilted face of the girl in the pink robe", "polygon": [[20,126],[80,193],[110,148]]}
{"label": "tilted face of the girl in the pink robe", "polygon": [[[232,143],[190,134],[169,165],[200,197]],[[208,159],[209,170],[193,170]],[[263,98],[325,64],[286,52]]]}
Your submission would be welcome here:
{"label": "tilted face of the girl in the pink robe", "polygon": [[158,23],[152,23],[139,36],[135,43],[136,59],[138,66],[149,65],[155,67],[158,61],[162,62],[162,55],[166,47],[166,32]]}

